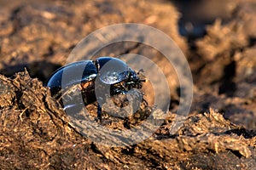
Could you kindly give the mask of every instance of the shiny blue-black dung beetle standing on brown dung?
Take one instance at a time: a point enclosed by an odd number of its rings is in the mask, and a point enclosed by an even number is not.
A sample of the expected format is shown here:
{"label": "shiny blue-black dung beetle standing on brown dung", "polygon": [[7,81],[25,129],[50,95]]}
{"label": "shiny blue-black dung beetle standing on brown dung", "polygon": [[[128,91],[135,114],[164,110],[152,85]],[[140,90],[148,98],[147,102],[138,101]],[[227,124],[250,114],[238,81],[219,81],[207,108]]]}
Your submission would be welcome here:
{"label": "shiny blue-black dung beetle standing on brown dung", "polygon": [[[101,105],[106,99],[104,96],[96,97],[96,84],[99,88],[97,91],[100,94],[101,92],[104,94],[104,90],[107,88],[110,96],[127,94],[131,88],[143,87],[145,80],[139,78],[138,74],[139,72],[133,71],[121,59],[100,57],[95,60],[82,60],[62,66],[49,77],[47,86],[50,88],[52,96],[60,100],[64,111],[78,105],[89,105],[97,101],[97,118],[102,122]],[[68,101],[64,105],[63,95],[73,93],[78,89],[78,86],[83,99],[67,98]],[[139,96],[143,99],[143,93]],[[83,101],[83,103],[80,101]]]}

